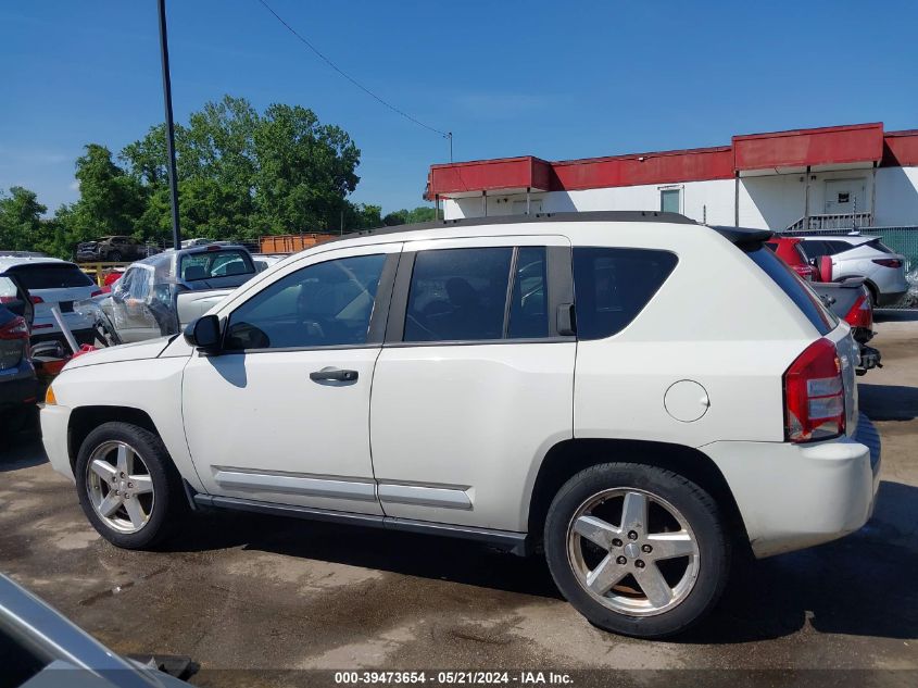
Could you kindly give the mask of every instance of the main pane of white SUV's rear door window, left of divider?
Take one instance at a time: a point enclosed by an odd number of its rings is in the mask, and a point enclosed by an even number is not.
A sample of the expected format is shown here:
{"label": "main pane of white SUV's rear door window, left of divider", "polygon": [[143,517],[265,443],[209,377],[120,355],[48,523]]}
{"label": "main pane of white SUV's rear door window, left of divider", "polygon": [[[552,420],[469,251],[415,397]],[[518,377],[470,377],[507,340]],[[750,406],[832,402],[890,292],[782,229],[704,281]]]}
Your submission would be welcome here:
{"label": "main pane of white SUV's rear door window, left of divider", "polygon": [[417,254],[405,341],[501,339],[511,248],[441,249]]}

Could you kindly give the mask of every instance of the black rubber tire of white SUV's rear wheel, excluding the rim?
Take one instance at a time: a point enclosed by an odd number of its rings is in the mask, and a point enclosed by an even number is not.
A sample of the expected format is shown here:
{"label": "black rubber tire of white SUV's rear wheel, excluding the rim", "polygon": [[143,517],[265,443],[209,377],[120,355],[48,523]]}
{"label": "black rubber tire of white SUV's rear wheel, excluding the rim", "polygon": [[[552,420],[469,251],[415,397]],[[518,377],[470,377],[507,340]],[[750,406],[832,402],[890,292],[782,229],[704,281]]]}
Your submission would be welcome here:
{"label": "black rubber tire of white SUV's rear wheel, excluding the rim", "polygon": [[[664,606],[655,615],[625,613],[595,599],[581,584],[575,571],[577,564],[569,556],[568,533],[578,510],[592,498],[618,488],[634,489],[668,502],[688,523],[697,546],[697,576],[693,586],[675,606],[668,610]],[[626,539],[624,546],[627,545]],[[727,586],[731,556],[722,516],[706,491],[671,471],[633,463],[591,466],[565,483],[549,509],[544,546],[555,584],[578,612],[600,628],[639,638],[672,636],[701,621],[716,605]],[[615,556],[614,549],[608,550],[612,556]],[[605,554],[603,550],[598,551],[599,555]],[[677,564],[678,561],[689,560],[677,560]],[[655,566],[627,558],[623,566],[633,565]]]}

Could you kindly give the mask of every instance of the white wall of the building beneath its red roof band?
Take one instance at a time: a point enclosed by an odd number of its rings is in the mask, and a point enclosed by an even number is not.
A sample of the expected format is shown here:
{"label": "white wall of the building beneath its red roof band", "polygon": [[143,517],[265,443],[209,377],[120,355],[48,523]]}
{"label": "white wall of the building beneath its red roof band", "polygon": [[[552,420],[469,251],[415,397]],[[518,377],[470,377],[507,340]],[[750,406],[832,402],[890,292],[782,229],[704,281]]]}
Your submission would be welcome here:
{"label": "white wall of the building beneath its red roof band", "polygon": [[[867,207],[870,201],[870,170],[840,170],[813,173],[809,182],[809,214],[825,212],[826,180],[865,178]],[[873,224],[879,226],[918,225],[918,167],[880,167],[876,180]],[[533,203],[541,202],[545,213],[590,210],[659,210],[659,191],[681,188],[682,213],[708,224],[734,224],[734,180],[714,179],[671,185],[643,185],[550,191],[532,193]],[[784,229],[804,215],[805,176],[803,173],[742,177],[740,179],[740,225]],[[488,197],[488,215],[513,214],[513,201],[525,200],[525,193]],[[443,201],[447,220],[482,216],[481,197]]]}

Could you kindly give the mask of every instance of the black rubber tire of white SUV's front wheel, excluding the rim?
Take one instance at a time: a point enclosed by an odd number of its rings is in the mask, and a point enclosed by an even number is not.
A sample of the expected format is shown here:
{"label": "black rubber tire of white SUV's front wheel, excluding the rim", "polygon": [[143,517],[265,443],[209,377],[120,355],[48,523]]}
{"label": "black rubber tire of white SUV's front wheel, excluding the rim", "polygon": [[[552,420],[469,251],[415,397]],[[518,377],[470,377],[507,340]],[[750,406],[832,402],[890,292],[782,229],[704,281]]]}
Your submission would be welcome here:
{"label": "black rubber tire of white SUV's front wheel, excluding the rim", "polygon": [[[135,533],[110,526],[92,505],[87,466],[97,448],[105,442],[124,442],[142,460],[153,486],[153,501],[146,524]],[[188,501],[168,451],[158,435],[130,423],[104,423],[84,440],[74,466],[79,503],[92,527],[112,545],[130,550],[153,549],[188,513]]]}

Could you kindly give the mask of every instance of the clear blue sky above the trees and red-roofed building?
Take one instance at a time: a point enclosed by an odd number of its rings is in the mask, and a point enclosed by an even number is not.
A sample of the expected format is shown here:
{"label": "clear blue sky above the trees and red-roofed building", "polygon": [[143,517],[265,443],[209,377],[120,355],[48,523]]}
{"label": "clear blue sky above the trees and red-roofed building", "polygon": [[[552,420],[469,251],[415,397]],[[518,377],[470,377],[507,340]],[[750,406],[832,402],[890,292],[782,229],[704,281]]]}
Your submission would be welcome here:
{"label": "clear blue sky above the trees and red-roofed building", "polygon": [[[456,160],[729,143],[732,134],[918,128],[918,3],[267,0],[382,98],[454,133]],[[447,142],[307,52],[257,0],[167,0],[176,120],[224,93],[302,104],[361,148],[353,200],[422,204]],[[77,198],[87,142],[163,117],[155,0],[0,5],[0,189]]]}

